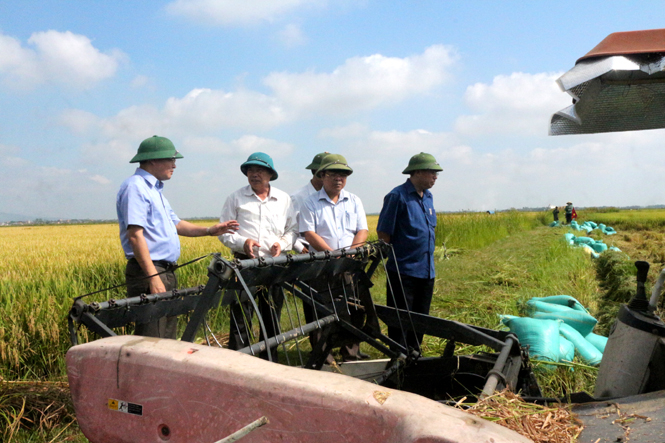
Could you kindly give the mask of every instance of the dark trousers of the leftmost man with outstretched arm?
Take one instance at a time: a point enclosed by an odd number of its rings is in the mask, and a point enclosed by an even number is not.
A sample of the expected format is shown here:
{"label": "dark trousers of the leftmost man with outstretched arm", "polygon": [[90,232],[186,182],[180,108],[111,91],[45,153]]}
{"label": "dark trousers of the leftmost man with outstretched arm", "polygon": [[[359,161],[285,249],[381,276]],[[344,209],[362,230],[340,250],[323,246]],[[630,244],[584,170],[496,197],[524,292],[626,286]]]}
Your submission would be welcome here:
{"label": "dark trousers of the leftmost man with outstretched arm", "polygon": [[[167,268],[155,263],[157,272],[167,271]],[[125,280],[127,281],[127,297],[138,297],[141,294],[150,294],[150,283],[141,265],[134,260],[127,261],[125,268]],[[167,291],[178,287],[178,278],[173,271],[167,271],[159,275]],[[147,323],[137,323],[134,335],[144,337],[170,338],[175,340],[178,332],[178,317],[154,318]]]}

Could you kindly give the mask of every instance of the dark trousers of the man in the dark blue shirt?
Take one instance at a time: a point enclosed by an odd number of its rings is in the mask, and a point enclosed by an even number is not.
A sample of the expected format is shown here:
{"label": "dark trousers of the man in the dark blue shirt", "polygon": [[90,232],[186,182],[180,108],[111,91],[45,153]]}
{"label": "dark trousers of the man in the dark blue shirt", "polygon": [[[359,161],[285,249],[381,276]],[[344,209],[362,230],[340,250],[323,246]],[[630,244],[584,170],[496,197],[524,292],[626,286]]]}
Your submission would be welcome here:
{"label": "dark trousers of the man in the dark blue shirt", "polygon": [[[408,275],[399,274],[394,271],[387,271],[386,281],[386,303],[388,306],[398,309],[410,310],[418,314],[429,314],[429,307],[432,303],[432,294],[434,292],[433,278],[416,278]],[[400,284],[401,280],[401,284]],[[402,328],[406,333],[406,339],[399,327],[389,327],[388,337],[416,350],[420,349],[423,341],[423,334],[416,334],[411,331],[411,324],[402,320]]]}

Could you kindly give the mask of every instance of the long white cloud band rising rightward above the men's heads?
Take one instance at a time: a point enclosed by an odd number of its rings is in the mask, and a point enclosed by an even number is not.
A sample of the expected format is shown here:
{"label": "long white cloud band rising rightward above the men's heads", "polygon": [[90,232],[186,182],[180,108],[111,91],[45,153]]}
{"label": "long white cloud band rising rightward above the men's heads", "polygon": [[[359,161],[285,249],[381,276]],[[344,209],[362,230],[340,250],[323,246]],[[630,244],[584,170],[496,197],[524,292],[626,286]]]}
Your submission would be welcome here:
{"label": "long white cloud band rising rightward above the men's heads", "polygon": [[60,121],[72,131],[106,138],[142,139],[146,133],[187,137],[215,135],[220,129],[262,131],[315,115],[348,115],[394,105],[425,94],[444,82],[456,60],[454,51],[435,45],[406,57],[372,55],[347,60],[331,73],[273,73],[265,83],[272,94],[247,89],[193,89],[164,106],[132,106],[100,119],[69,110]]}

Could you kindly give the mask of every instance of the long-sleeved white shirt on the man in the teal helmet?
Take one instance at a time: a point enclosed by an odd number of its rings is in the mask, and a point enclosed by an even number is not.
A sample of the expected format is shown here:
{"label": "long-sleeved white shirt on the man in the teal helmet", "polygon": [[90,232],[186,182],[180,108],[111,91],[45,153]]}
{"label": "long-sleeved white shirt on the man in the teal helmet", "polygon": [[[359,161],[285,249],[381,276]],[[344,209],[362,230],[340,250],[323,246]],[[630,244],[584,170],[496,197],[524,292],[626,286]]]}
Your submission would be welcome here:
{"label": "long-sleeved white shirt on the man in the teal helmet", "polygon": [[219,240],[233,252],[245,253],[247,239],[255,240],[260,247],[259,257],[271,256],[270,248],[279,243],[282,254],[291,250],[296,238],[297,222],[291,197],[274,186],[265,200],[261,200],[247,185],[229,195],[222,208],[220,221],[237,220],[240,228],[222,234]]}

